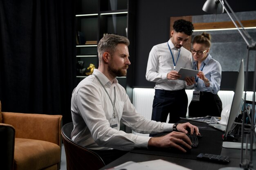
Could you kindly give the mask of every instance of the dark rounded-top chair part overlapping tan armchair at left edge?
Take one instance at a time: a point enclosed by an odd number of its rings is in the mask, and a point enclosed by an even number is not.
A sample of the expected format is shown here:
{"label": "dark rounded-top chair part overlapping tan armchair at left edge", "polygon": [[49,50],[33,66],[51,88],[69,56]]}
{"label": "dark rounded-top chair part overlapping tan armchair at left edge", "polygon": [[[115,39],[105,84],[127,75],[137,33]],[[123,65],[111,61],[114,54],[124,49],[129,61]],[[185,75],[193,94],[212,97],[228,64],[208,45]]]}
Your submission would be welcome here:
{"label": "dark rounded-top chair part overlapping tan armchair at left edge", "polygon": [[0,169],[13,170],[15,129],[9,124],[0,123]]}

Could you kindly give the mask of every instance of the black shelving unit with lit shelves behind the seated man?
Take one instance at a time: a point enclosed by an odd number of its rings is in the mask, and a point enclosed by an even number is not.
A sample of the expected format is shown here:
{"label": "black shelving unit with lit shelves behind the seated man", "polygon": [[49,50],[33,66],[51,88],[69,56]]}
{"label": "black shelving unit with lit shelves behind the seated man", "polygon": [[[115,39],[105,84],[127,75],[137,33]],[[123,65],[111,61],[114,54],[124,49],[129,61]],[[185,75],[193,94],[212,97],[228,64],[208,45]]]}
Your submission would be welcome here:
{"label": "black shelving unit with lit shelves behind the seated man", "polygon": [[[132,0],[77,0],[76,1],[76,80],[85,78],[90,64],[98,68],[97,43],[106,34],[117,34],[133,40],[128,28]],[[135,15],[134,13],[132,15]],[[130,18],[133,19],[133,18]],[[132,42],[130,42],[132,43]],[[130,51],[130,48],[129,48]],[[134,51],[134,50],[131,50]],[[131,55],[131,53],[130,53]],[[130,57],[131,59],[131,57]],[[129,70],[130,69],[129,67]],[[117,77],[126,88],[127,77]]]}

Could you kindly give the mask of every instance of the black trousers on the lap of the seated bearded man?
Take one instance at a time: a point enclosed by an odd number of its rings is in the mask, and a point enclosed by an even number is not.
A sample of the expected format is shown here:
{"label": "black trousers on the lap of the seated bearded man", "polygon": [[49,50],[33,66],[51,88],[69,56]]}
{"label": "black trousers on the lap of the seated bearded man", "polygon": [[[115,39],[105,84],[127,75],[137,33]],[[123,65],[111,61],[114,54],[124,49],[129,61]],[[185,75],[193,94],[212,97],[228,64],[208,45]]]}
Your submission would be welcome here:
{"label": "black trousers on the lap of the seated bearded man", "polygon": [[112,149],[112,150],[92,150],[94,152],[96,152],[101,159],[104,161],[105,165],[107,165],[108,163],[115,161],[116,159],[118,159],[119,157],[123,156],[124,154],[126,154],[127,150],[117,150],[117,149]]}

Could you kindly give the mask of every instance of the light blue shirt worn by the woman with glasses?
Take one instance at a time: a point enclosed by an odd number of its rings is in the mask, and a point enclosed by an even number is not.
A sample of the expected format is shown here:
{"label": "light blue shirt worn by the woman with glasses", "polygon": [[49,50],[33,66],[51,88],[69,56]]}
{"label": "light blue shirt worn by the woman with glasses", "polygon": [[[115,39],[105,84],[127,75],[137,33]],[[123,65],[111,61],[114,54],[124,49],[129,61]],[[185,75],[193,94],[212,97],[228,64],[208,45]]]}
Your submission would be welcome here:
{"label": "light blue shirt worn by the woman with glasses", "polygon": [[[205,64],[205,65],[204,65]],[[193,69],[197,70],[197,62],[193,62]],[[198,78],[197,84],[195,84],[195,90],[211,92],[217,94],[220,91],[221,82],[221,65],[218,61],[214,60],[210,54],[204,59],[200,65],[200,71],[204,73],[204,76],[210,80],[210,86],[206,87],[204,80]]]}

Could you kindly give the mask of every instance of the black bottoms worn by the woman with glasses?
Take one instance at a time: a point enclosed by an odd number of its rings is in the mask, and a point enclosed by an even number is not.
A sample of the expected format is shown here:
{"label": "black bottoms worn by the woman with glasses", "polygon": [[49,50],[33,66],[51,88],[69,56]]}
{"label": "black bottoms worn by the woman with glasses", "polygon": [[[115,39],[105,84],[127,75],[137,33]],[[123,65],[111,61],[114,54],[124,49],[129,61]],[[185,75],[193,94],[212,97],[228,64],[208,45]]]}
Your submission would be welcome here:
{"label": "black bottoms worn by the woman with glasses", "polygon": [[189,104],[189,116],[193,117],[205,117],[207,115],[220,117],[221,111],[220,97],[211,92],[200,92],[200,101],[191,101]]}

